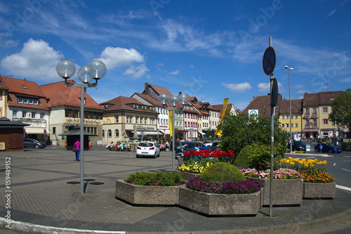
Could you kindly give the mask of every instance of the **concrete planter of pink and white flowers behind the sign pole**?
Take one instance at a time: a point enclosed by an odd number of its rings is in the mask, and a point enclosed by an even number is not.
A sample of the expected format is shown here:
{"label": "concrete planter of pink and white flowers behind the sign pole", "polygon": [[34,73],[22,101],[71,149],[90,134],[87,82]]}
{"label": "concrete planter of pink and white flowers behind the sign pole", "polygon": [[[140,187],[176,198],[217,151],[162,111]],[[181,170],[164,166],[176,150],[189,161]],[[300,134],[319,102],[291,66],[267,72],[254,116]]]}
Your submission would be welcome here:
{"label": "concrete planter of pink and white flowers behind the sign pole", "polygon": [[[241,169],[246,178],[252,178],[263,188],[263,205],[270,204],[270,170]],[[300,205],[303,203],[302,175],[293,169],[273,171],[272,204]]]}

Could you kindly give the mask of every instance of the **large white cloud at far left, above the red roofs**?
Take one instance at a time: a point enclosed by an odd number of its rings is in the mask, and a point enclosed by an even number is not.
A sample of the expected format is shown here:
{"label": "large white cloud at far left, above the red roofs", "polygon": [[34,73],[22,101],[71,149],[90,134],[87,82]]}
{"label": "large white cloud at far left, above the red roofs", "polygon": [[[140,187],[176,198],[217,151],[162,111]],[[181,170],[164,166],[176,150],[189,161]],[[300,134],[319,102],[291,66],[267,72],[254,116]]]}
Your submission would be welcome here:
{"label": "large white cloud at far left, above the red roofs", "polygon": [[1,67],[16,77],[32,77],[47,82],[60,80],[56,65],[62,58],[62,53],[54,51],[46,41],[29,39],[19,53],[3,58]]}

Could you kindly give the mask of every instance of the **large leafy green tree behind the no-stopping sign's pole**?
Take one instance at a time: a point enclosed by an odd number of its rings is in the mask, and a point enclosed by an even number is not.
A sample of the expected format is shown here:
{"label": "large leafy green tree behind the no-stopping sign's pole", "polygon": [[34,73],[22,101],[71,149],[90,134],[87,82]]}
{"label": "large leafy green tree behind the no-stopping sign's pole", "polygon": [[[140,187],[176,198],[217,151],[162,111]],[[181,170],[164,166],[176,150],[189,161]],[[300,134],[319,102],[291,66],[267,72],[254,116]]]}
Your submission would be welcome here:
{"label": "large leafy green tree behind the no-stopping sign's pole", "polygon": [[[233,150],[239,155],[241,149],[253,143],[270,145],[270,117],[258,117],[257,115],[227,115],[222,124],[221,150]],[[286,142],[289,133],[280,128],[279,119],[274,117],[274,157],[282,157],[286,152]]]}

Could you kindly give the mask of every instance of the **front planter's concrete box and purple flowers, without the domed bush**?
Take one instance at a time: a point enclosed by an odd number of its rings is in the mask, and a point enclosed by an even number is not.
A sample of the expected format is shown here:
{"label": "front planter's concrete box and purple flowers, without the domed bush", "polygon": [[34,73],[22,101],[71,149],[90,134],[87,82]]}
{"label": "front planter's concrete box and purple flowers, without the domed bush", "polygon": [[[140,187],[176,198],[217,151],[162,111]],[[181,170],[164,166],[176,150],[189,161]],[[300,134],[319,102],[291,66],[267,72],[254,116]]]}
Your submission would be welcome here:
{"label": "front planter's concrete box and purple flowers, without the domed bush", "polygon": [[254,215],[260,211],[261,190],[256,181],[188,181],[179,190],[179,205],[207,215]]}

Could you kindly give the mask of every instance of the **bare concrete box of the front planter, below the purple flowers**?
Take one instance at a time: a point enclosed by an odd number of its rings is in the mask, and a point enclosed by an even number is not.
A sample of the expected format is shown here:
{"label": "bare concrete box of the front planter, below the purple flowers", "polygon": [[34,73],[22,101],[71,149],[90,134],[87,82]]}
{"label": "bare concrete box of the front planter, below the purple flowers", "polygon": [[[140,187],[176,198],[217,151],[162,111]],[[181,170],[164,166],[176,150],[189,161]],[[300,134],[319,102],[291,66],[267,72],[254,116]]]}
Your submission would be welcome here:
{"label": "bare concrete box of the front planter, below the purple flowers", "polygon": [[179,205],[208,215],[256,215],[261,204],[261,191],[251,194],[202,193],[179,188]]}

